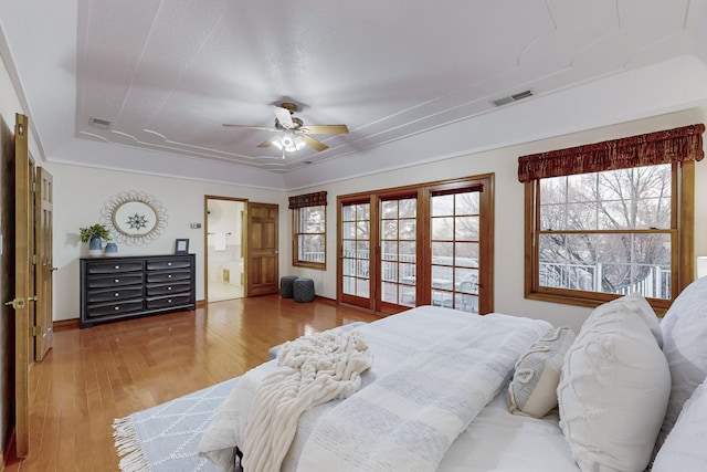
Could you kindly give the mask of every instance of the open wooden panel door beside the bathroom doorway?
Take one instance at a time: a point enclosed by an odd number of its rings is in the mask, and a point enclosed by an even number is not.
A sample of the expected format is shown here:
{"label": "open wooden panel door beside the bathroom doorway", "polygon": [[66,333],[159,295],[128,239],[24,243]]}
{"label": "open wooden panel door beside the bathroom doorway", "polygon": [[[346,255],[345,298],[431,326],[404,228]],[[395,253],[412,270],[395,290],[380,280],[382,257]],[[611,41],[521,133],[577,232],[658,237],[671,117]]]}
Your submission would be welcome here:
{"label": "open wooden panel door beside the bathroom doorway", "polygon": [[279,211],[276,204],[247,203],[247,281],[245,296],[277,293]]}

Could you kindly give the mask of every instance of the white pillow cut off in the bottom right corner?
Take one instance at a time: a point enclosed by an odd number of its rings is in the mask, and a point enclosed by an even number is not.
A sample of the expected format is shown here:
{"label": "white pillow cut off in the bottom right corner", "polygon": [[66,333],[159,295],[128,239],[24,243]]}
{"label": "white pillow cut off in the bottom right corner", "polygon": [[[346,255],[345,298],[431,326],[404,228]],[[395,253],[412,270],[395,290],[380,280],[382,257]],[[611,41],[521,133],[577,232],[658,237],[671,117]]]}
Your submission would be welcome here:
{"label": "white pillow cut off in the bottom right corner", "polygon": [[683,406],[675,427],[658,451],[653,472],[707,471],[707,381]]}

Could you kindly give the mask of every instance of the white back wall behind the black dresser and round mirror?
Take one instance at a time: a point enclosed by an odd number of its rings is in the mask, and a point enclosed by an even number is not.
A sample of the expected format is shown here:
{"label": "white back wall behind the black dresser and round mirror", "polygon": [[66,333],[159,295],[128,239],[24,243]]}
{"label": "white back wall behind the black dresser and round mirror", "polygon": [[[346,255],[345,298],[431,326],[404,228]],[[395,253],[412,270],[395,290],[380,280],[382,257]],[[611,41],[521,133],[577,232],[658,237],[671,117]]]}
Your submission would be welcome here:
{"label": "white back wall behind the black dresser and round mirror", "polygon": [[[129,148],[126,148],[129,153]],[[156,241],[138,247],[118,243],[119,255],[171,254],[175,239],[188,238],[189,252],[197,254],[197,300],[204,298],[204,196],[235,197],[281,207],[281,266],[289,263],[286,198],[283,192],[225,186],[197,180],[155,177],[115,170],[49,162],[54,176],[54,321],[77,318],[80,313],[78,259],[86,256],[87,244],[78,240],[78,228],[99,222],[101,209],[110,197],[136,190],[151,195],[165,207],[168,224]],[[201,223],[201,229],[190,229]]]}

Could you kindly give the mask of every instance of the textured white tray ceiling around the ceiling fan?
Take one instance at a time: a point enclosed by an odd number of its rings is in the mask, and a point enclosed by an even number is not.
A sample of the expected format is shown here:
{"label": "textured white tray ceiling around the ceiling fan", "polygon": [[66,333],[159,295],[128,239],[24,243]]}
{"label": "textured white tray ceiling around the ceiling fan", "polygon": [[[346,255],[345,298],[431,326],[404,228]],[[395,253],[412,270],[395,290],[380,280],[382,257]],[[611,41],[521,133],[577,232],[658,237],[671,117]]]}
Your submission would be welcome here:
{"label": "textured white tray ceiling around the ceiling fan", "polygon": [[[238,169],[266,186],[276,183],[263,171],[282,174],[278,179],[331,166],[351,172],[351,159],[401,140],[432,139],[421,159],[434,158],[437,145],[444,153],[471,149],[473,143],[435,143],[446,135],[433,130],[463,122],[473,135],[474,123],[488,122],[489,113],[551,103],[552,94],[643,67],[655,81],[651,66],[674,57],[692,57],[680,67],[687,63],[701,73],[705,45],[698,39],[707,27],[700,0],[35,3],[42,4],[3,1],[0,24],[48,160],[150,172],[167,162],[187,176],[209,167],[215,174]],[[674,78],[684,88],[682,77]],[[696,103],[704,88],[690,91]],[[499,108],[492,103],[526,90],[534,96]],[[645,94],[654,92],[663,91]],[[296,116],[305,125],[346,124],[350,133],[316,136],[329,149],[306,148],[283,159],[276,148],[257,147],[272,132],[222,126],[271,127],[273,105],[283,101],[300,106]],[[564,102],[559,112],[581,105]],[[92,118],[110,126],[93,127]],[[515,139],[535,136],[524,135],[523,122],[504,126],[506,134],[518,128]],[[144,156],[155,153],[88,153],[101,148],[72,143],[76,138],[167,155],[150,162]],[[367,161],[369,170],[376,166],[398,166],[395,156]]]}

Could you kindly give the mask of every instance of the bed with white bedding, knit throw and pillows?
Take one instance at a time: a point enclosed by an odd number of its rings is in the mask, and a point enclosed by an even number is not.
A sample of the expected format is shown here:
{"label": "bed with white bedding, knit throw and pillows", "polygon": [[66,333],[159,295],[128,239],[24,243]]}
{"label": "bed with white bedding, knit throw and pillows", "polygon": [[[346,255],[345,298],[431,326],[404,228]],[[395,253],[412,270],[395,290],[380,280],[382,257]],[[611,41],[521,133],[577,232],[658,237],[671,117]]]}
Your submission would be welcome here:
{"label": "bed with white bedding, knit throw and pillows", "polygon": [[707,277],[658,323],[629,295],[577,334],[416,307],[323,334],[347,346],[337,359],[349,364],[331,371],[349,377],[303,375],[296,388],[273,380],[288,378],[287,353],[302,354],[287,343],[240,378],[199,453],[220,470],[238,470],[242,453],[249,472],[707,470],[705,301]]}

